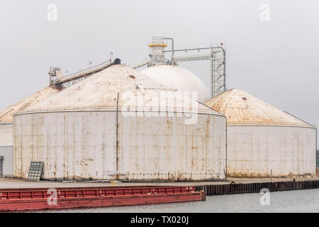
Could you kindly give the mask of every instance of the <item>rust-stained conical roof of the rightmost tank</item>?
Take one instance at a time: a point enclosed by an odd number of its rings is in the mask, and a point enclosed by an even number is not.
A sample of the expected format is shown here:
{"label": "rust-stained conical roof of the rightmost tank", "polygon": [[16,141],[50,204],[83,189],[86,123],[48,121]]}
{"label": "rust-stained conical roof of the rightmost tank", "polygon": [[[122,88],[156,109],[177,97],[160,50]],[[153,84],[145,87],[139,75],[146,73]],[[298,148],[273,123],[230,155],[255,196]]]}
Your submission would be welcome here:
{"label": "rust-stained conical roof of the rightmost tank", "polygon": [[228,124],[313,127],[240,89],[229,89],[206,101],[205,105],[225,114]]}

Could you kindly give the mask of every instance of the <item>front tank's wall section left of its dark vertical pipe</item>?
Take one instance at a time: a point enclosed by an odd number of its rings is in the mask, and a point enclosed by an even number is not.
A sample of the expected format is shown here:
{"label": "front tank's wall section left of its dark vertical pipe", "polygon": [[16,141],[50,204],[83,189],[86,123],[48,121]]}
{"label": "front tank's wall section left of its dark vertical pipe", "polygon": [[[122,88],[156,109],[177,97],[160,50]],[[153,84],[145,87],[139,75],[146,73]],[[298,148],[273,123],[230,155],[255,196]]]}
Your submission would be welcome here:
{"label": "front tank's wall section left of its dark vertical pipe", "polygon": [[13,175],[27,178],[31,161],[43,179],[111,179],[116,172],[116,113],[64,112],[14,117]]}

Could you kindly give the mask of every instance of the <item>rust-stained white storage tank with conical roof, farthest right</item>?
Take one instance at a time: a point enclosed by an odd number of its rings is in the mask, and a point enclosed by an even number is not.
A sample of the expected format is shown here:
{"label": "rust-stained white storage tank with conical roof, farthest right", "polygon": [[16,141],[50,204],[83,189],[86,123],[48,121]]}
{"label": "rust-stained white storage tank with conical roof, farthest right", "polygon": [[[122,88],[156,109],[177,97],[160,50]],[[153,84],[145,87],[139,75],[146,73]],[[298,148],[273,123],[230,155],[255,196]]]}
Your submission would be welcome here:
{"label": "rust-stained white storage tank with conical roof, farthest right", "polygon": [[316,128],[240,89],[206,101],[227,117],[227,174],[315,175]]}

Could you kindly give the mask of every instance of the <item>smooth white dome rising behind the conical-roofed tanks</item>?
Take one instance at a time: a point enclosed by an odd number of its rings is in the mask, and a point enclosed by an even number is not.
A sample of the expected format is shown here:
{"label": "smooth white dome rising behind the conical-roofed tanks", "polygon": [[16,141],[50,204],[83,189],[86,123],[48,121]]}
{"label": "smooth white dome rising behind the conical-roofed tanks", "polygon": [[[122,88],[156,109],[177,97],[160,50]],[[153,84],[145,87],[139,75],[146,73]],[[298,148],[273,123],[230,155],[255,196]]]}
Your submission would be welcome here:
{"label": "smooth white dome rising behind the conical-roofed tanks", "polygon": [[141,71],[142,74],[155,79],[168,87],[178,89],[181,92],[198,92],[198,101],[210,98],[210,92],[201,79],[195,74],[174,65],[157,65]]}

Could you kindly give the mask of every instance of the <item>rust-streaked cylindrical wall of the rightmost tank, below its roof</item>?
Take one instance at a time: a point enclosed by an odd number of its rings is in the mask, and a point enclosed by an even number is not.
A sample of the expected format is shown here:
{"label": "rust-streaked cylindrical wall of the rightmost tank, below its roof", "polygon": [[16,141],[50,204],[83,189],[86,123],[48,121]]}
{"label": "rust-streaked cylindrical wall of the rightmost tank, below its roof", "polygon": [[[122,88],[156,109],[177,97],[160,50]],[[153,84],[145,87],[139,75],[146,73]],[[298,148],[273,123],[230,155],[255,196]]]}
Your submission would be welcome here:
{"label": "rust-streaked cylindrical wall of the rightmost tank, below its roof", "polygon": [[227,127],[227,173],[231,177],[315,175],[315,128]]}

